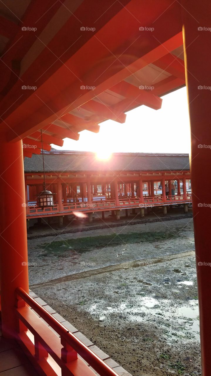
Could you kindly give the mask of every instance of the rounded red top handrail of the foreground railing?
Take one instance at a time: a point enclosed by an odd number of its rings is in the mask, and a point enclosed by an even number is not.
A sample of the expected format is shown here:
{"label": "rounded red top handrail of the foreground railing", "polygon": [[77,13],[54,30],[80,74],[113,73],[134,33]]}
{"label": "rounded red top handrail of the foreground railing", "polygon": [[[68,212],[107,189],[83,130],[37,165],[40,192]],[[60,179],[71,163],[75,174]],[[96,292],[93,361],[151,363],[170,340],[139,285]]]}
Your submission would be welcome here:
{"label": "rounded red top handrail of the foreground railing", "polygon": [[[36,302],[26,291],[21,287],[17,287],[15,290],[17,299],[19,297],[24,300],[34,311],[47,322],[48,325],[57,332],[61,337],[61,343],[66,341],[69,346],[72,347],[95,371],[101,376],[118,376],[118,374],[112,370],[102,359],[100,359],[92,350],[84,345],[74,334],[68,331],[68,329],[62,325],[55,317],[53,317],[44,307]],[[53,347],[53,343],[52,343]],[[86,376],[86,375],[84,375]]]}

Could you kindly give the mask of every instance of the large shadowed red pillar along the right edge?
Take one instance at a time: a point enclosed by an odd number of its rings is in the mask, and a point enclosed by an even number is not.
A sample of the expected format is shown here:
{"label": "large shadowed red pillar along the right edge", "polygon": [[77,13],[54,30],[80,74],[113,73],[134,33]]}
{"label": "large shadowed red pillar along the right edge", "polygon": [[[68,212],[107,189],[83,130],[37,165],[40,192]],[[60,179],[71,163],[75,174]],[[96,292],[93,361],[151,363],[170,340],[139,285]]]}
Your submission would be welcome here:
{"label": "large shadowed red pillar along the right edge", "polygon": [[[196,247],[196,269],[199,297],[199,320],[202,375],[211,370],[211,2],[182,1],[185,78],[191,130],[190,171],[193,202],[193,223]],[[206,189],[202,182],[206,177]],[[208,263],[208,264],[206,264]]]}

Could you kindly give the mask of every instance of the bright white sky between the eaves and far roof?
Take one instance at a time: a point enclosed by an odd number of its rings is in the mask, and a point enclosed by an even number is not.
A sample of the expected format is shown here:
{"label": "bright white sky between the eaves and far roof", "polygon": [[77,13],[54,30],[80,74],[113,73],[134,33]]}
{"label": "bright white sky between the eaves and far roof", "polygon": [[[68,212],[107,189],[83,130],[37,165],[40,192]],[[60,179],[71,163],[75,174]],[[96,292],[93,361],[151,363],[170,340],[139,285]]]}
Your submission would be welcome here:
{"label": "bright white sky between the eaves and far roof", "polygon": [[140,106],[127,112],[126,122],[107,120],[99,133],[84,130],[80,139],[65,138],[63,150],[87,150],[102,155],[112,152],[189,153],[190,129],[186,88],[163,97],[160,110]]}

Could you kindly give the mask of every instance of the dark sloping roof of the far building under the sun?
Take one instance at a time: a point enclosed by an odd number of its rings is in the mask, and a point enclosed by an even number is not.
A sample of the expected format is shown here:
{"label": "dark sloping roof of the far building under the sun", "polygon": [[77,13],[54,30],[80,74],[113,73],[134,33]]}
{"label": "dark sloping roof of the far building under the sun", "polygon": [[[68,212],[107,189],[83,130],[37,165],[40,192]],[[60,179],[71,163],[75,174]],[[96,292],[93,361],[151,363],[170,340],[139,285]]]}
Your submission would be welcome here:
{"label": "dark sloping roof of the far building under the sun", "polygon": [[[189,170],[188,154],[113,153],[102,161],[90,152],[54,151],[44,154],[46,172],[180,171]],[[24,159],[26,173],[42,172],[42,155]]]}

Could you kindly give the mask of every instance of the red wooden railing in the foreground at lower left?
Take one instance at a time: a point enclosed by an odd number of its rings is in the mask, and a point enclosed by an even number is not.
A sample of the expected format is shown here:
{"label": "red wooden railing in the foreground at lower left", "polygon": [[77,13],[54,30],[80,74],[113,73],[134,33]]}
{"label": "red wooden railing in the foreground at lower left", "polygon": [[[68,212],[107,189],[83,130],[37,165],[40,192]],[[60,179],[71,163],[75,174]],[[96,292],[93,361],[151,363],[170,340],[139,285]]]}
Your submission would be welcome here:
{"label": "red wooden railing in the foreground at lower left", "polygon": [[[15,292],[18,342],[38,373],[46,376],[94,376],[95,373],[84,362],[86,361],[100,376],[118,376],[22,288],[18,287]],[[78,354],[84,361],[78,358]]]}

